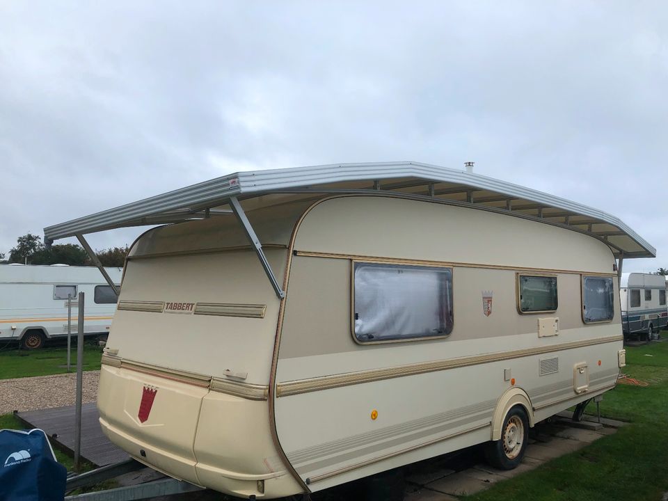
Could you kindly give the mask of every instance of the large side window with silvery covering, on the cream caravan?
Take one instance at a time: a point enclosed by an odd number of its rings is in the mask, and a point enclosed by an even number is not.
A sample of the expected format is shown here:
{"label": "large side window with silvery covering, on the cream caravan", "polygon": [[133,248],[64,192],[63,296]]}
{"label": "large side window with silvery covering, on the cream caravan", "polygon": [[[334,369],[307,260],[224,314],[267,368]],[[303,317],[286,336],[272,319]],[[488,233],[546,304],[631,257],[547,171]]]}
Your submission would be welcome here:
{"label": "large side window with silvery covering, on the cream caravan", "polygon": [[452,268],[354,264],[359,342],[409,340],[452,331]]}

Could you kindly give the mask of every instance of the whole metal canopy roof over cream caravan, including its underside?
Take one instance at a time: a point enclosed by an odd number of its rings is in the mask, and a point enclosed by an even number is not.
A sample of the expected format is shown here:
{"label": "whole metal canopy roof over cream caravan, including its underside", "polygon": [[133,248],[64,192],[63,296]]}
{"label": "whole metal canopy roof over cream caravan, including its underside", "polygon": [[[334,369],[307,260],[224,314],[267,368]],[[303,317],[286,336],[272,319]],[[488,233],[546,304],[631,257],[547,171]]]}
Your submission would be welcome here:
{"label": "whole metal canopy roof over cream caravan, including its underside", "polygon": [[216,179],[97,212],[44,230],[45,241],[129,226],[177,223],[327,193],[401,193],[484,208],[594,236],[617,257],[655,257],[653,246],[618,218],[586,205],[491,177],[417,162],[335,164],[257,170]]}

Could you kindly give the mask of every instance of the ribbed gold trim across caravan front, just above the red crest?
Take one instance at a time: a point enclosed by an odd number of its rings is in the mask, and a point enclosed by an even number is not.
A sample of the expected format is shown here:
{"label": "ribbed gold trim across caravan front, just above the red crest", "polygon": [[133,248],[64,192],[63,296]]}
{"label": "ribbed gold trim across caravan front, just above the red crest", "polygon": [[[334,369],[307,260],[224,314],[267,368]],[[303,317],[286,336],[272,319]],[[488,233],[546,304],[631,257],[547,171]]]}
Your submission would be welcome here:
{"label": "ribbed gold trim across caravan front, just above the red crest", "polygon": [[125,360],[109,353],[102,353],[102,365],[140,372],[141,374],[197,386],[198,388],[209,388],[209,390],[214,392],[225,393],[226,395],[248,400],[267,400],[267,395],[269,395],[269,386],[267,385],[239,383],[237,381],[227,381],[213,376],[197,374],[196,372],[166,369],[157,365]]}

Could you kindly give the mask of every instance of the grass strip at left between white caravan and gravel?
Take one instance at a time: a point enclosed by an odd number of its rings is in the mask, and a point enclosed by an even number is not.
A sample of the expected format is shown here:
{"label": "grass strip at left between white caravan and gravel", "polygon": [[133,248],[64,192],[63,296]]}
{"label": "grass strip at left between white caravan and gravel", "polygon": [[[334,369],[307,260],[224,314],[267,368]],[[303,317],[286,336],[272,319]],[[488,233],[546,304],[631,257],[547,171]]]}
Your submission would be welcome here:
{"label": "grass strip at left between white caravan and gravel", "polygon": [[[84,344],[84,370],[100,369],[102,348]],[[72,346],[72,372],[77,372],[77,346]],[[47,376],[67,372],[67,347],[0,351],[0,379]]]}

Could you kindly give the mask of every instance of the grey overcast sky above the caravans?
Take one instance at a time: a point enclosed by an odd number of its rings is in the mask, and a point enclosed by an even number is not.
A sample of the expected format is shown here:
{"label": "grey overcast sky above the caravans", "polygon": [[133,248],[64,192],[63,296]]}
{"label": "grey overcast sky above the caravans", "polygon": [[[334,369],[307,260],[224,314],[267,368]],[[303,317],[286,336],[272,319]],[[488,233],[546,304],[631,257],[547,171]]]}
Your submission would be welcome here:
{"label": "grey overcast sky above the caravans", "polygon": [[662,1],[0,0],[0,253],[237,170],[471,160],[668,267],[666,26]]}

